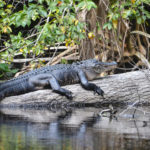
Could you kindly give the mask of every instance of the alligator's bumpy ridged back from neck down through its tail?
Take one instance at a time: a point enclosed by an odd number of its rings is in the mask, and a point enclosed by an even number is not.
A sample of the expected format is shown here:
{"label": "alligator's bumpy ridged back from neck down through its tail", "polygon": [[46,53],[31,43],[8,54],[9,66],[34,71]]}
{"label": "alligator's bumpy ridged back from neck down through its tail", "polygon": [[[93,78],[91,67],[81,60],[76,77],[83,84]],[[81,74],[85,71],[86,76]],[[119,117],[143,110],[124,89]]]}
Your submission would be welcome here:
{"label": "alligator's bumpy ridged back from neck down through its tail", "polygon": [[[79,69],[83,66],[90,66],[91,64],[94,64],[95,60],[94,59],[89,59],[89,60],[84,60],[81,62],[73,63],[73,64],[57,64],[54,66],[46,66],[46,67],[41,67],[39,69],[35,69],[33,71],[30,71],[28,73],[25,73],[17,78],[13,78],[11,80],[8,80],[6,82],[3,82],[0,84],[0,99],[3,98],[4,96],[10,96],[10,95],[16,95],[16,94],[21,94],[21,93],[26,93],[29,92],[33,89],[31,85],[28,83],[28,79],[30,77],[34,77],[39,74],[45,74],[45,73],[50,73],[53,74],[53,71],[59,70],[58,73],[64,72],[64,70],[69,69]],[[70,81],[69,81],[70,82]]]}

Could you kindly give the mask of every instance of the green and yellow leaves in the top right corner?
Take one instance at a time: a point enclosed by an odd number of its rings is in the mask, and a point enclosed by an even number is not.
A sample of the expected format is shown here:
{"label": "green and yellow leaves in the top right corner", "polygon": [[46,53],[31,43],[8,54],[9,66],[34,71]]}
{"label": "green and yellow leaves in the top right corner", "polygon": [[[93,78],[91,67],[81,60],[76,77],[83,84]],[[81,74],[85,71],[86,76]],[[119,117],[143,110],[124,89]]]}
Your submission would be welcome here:
{"label": "green and yellow leaves in the top right corner", "polygon": [[145,9],[146,4],[149,4],[149,0],[110,0],[108,22],[104,24],[103,28],[117,29],[120,18],[129,21],[135,20],[138,24],[144,23],[150,19],[150,12]]}

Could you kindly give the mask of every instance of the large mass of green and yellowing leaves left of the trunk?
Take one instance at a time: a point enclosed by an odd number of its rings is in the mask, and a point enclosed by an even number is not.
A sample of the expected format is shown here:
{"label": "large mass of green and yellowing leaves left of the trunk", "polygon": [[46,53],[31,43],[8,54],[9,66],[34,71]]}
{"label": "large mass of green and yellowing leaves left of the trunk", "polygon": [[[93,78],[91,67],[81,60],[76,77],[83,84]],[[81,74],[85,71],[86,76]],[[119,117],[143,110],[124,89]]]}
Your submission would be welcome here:
{"label": "large mass of green and yellowing leaves left of the trunk", "polygon": [[92,0],[0,0],[0,58],[35,58],[61,42],[73,46],[85,37],[77,12],[95,7]]}

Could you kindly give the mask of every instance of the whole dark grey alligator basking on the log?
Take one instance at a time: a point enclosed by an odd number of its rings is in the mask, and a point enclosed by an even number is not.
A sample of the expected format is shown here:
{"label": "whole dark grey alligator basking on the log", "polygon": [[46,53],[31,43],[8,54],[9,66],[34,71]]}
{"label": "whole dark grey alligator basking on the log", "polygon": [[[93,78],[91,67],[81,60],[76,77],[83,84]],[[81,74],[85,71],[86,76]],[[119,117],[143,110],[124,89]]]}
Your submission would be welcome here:
{"label": "whole dark grey alligator basking on the log", "polygon": [[88,59],[73,64],[57,64],[45,66],[0,84],[0,100],[8,96],[15,96],[40,88],[51,88],[55,93],[72,99],[72,92],[62,88],[63,85],[81,83],[86,90],[103,96],[104,91],[88,80],[96,79],[100,73],[111,70],[117,66],[116,62],[100,62]]}

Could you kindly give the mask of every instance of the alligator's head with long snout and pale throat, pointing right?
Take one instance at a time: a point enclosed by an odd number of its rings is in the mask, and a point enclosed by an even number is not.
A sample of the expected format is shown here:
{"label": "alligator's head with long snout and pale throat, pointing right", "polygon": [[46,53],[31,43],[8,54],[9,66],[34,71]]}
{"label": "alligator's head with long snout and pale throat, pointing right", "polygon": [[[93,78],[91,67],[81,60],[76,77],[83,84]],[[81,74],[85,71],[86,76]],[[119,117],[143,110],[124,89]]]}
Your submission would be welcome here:
{"label": "alligator's head with long snout and pale throat, pointing right", "polygon": [[96,59],[88,59],[81,61],[80,63],[81,69],[86,74],[88,80],[95,79],[100,73],[117,67],[116,62],[100,62]]}

